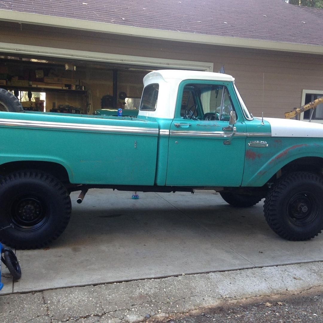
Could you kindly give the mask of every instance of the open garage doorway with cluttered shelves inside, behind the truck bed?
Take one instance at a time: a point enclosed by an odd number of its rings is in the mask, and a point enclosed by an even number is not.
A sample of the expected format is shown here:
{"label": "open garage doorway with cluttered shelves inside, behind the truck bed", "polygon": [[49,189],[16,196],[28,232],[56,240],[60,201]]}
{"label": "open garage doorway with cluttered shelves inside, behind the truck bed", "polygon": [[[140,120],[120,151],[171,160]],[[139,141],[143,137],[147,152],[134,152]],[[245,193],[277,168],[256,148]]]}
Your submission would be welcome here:
{"label": "open garage doorway with cluttered shelves inside, behind the truck bed", "polygon": [[151,70],[213,69],[212,63],[17,44],[2,43],[1,50],[0,87],[35,102],[25,103],[26,109],[47,112],[93,114],[102,108],[127,109],[127,104],[136,109],[142,79]]}

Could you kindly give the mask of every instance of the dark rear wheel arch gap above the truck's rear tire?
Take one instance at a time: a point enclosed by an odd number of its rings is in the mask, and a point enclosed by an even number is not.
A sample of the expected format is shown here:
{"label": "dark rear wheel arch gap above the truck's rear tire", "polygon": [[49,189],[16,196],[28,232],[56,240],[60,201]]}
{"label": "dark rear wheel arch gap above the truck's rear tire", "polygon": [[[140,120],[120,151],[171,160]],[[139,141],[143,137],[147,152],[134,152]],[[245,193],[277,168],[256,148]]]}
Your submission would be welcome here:
{"label": "dark rear wheel arch gap above the truck's rear tire", "polygon": [[11,172],[22,171],[26,169],[33,169],[56,177],[60,182],[70,182],[70,176],[66,168],[56,162],[52,161],[11,161],[0,165],[0,174],[4,176]]}

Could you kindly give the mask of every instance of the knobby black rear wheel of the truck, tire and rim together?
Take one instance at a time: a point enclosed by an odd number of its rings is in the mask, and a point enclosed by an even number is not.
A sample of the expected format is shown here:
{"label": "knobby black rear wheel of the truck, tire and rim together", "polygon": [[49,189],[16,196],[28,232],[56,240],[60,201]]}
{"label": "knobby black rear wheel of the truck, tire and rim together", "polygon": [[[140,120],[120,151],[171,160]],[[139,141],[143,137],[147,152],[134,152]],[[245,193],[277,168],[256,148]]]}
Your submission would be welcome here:
{"label": "knobby black rear wheel of the truck, tire and rim together", "polygon": [[55,177],[35,170],[0,180],[0,241],[17,249],[48,245],[65,230],[71,215],[66,188]]}

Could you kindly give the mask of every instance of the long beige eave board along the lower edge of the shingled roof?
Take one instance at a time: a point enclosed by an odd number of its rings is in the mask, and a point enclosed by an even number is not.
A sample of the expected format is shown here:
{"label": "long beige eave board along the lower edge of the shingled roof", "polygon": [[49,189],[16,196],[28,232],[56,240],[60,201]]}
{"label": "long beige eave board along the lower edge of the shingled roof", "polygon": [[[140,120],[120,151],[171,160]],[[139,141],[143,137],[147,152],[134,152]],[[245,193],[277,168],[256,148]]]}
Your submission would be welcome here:
{"label": "long beige eave board along the lower edge of the shingled roof", "polygon": [[172,30],[151,29],[135,26],[125,26],[90,20],[80,20],[66,17],[39,15],[33,13],[0,9],[0,20],[32,25],[78,29],[100,33],[110,33],[126,36],[154,38],[162,40],[181,41],[219,46],[245,47],[277,51],[298,52],[307,54],[323,54],[322,46],[298,43],[258,40],[250,38],[203,35]]}

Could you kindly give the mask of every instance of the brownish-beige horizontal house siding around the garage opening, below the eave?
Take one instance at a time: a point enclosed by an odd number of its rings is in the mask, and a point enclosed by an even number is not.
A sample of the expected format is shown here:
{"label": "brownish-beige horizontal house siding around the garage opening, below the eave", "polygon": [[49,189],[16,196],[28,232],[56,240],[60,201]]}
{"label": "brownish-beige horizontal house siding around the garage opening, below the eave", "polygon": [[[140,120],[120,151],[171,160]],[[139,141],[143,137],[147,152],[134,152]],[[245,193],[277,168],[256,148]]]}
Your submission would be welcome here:
{"label": "brownish-beige horizontal house siding around the garage opening, below the eave", "polygon": [[[162,41],[0,22],[0,42],[224,65],[251,113],[284,118],[302,90],[323,90],[323,55]],[[0,49],[1,51],[1,49]],[[50,53],[48,54],[50,55]],[[135,65],[136,62],[134,61]]]}

